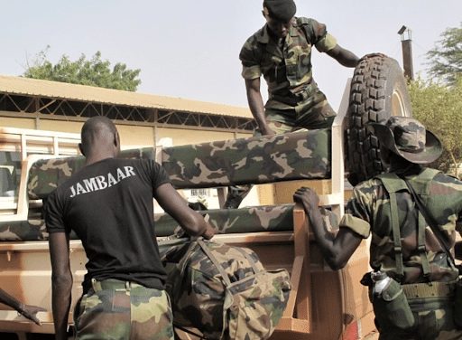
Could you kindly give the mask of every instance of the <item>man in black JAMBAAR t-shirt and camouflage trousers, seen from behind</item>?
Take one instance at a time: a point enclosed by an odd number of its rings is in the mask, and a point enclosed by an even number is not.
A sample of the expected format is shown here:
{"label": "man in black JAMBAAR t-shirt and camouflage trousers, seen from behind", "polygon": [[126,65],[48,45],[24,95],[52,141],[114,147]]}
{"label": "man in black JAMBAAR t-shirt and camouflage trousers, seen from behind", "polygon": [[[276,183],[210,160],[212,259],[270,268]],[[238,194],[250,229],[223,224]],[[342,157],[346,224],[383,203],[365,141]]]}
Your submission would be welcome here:
{"label": "man in black JAMBAAR t-shirt and camouflage trousers, seen from behind", "polygon": [[120,140],[110,119],[88,119],[81,135],[86,164],[51,193],[45,208],[56,339],[67,336],[71,230],[88,257],[76,339],[173,339],[152,197],[189,235],[210,239],[213,229],[189,209],[161,165],[117,158]]}

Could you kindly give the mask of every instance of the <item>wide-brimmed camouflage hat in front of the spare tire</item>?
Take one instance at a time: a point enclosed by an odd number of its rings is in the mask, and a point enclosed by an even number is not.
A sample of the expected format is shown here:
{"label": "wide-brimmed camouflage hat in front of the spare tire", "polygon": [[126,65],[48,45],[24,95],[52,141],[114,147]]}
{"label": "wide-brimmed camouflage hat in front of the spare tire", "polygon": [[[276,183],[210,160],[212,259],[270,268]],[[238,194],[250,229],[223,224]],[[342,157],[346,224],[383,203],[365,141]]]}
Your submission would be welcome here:
{"label": "wide-brimmed camouflage hat in front of the spare tire", "polygon": [[392,117],[385,124],[371,123],[367,128],[383,146],[412,163],[431,163],[443,151],[439,138],[416,119]]}

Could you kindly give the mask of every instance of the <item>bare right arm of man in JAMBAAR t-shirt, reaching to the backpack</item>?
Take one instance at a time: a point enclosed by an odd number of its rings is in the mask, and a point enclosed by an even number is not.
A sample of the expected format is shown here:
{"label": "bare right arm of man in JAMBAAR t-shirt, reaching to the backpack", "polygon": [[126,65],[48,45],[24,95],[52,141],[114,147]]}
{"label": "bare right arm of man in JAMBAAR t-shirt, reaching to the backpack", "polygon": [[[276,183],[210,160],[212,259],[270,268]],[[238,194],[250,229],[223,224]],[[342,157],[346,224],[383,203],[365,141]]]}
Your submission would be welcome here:
{"label": "bare right arm of man in JAMBAAR t-shirt, reaching to the backpack", "polygon": [[180,227],[191,236],[202,236],[209,240],[213,237],[212,226],[204,220],[200,213],[190,209],[188,203],[177,193],[171,184],[162,184],[154,194],[165,213],[171,215]]}

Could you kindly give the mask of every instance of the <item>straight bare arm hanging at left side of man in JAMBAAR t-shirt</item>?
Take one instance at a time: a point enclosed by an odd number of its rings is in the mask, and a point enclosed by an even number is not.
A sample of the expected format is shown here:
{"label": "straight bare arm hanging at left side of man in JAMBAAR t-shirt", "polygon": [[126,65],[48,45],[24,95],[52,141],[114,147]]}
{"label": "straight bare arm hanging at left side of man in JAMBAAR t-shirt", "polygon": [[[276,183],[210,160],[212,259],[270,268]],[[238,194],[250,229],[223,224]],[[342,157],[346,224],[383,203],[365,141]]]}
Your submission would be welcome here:
{"label": "straight bare arm hanging at left side of man in JAMBAAR t-shirt", "polygon": [[70,309],[72,273],[69,261],[69,235],[51,232],[49,236],[51,257],[51,304],[56,340],[67,339]]}

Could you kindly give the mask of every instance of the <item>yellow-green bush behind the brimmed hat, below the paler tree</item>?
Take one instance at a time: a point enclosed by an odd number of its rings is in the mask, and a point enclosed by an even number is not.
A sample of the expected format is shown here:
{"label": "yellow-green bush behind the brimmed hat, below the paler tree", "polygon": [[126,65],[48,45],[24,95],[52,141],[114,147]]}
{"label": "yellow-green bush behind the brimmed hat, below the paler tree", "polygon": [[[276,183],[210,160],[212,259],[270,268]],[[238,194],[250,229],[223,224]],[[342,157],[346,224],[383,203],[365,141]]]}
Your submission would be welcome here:
{"label": "yellow-green bush behind the brimmed hat, below the paler tree", "polygon": [[431,80],[412,80],[409,84],[412,117],[439,137],[444,150],[432,164],[445,173],[457,174],[462,163],[462,75],[454,87]]}

